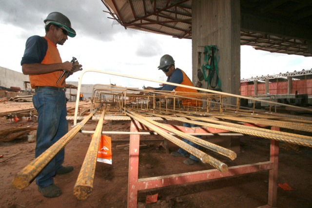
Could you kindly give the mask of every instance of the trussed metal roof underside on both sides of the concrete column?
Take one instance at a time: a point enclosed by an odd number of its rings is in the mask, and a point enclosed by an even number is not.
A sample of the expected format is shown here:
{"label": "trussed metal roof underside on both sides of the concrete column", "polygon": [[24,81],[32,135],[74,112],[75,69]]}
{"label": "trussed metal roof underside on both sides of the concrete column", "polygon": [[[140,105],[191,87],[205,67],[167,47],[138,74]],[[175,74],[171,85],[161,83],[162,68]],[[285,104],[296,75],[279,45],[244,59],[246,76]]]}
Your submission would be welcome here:
{"label": "trussed metal roof underside on both sides of the concrete column", "polygon": [[[125,28],[192,38],[192,0],[102,0],[119,24]],[[240,0],[241,14],[255,14],[266,19],[312,28],[312,1],[307,0]],[[287,38],[241,30],[241,45],[275,53],[312,56],[312,34],[306,38]],[[309,41],[311,41],[309,43]]]}

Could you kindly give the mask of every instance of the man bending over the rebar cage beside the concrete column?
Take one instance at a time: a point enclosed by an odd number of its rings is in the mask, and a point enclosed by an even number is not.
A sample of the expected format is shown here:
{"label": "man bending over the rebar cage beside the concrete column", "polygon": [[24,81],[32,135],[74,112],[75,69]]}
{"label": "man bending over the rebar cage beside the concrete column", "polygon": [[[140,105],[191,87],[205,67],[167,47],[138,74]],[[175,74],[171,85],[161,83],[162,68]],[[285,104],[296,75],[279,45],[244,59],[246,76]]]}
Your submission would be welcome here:
{"label": "man bending over the rebar cage beside the concrete column", "polygon": [[[172,56],[170,55],[164,55],[160,58],[160,64],[158,66],[158,70],[162,70],[167,78],[167,82],[172,82],[176,84],[182,84],[182,85],[187,85],[187,86],[192,86],[194,87],[192,81],[190,78],[183,72],[181,69],[175,67],[175,60],[173,59]],[[177,92],[186,92],[186,93],[197,93],[197,90],[190,89],[190,88],[185,88],[185,87],[177,87],[174,85],[168,85],[165,84],[162,87],[158,88],[153,88],[153,87],[147,87],[145,88],[146,90],[161,90],[161,91],[177,91]],[[196,102],[194,99],[182,99],[182,105],[185,106],[201,106],[202,102]],[[195,124],[190,124],[190,123],[183,123],[184,127],[198,127]],[[196,136],[197,138],[201,139],[201,136]],[[196,149],[199,150],[200,146],[195,144],[194,142],[191,142],[187,139],[182,139],[182,141],[188,143],[189,145],[195,147]],[[180,148],[178,151],[171,152],[172,156],[175,157],[187,157],[188,152]],[[198,163],[198,158],[195,157],[194,155],[190,155],[190,157],[186,160],[183,161],[184,164],[186,165],[194,165]]]}

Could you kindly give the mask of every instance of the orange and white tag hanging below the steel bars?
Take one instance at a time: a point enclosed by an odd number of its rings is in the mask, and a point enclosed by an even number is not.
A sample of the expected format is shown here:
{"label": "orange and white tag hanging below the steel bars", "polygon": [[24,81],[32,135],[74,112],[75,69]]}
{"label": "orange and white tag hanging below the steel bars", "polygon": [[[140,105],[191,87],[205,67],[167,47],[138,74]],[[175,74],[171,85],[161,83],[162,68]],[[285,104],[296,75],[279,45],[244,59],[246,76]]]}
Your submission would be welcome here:
{"label": "orange and white tag hanging below the steel bars", "polygon": [[98,145],[98,162],[112,164],[112,141],[111,137],[101,135]]}

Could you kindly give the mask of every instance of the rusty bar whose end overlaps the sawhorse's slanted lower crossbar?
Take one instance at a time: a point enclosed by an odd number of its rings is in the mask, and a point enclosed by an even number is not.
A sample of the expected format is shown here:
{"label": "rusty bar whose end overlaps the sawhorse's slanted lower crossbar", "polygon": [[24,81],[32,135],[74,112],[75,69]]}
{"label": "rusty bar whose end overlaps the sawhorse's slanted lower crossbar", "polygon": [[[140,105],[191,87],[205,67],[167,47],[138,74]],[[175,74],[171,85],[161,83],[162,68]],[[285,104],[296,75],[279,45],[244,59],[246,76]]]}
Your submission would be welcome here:
{"label": "rusty bar whose end overlaps the sawhorse's slanted lower crossbar", "polygon": [[216,160],[215,158],[209,156],[208,154],[206,154],[200,150],[197,150],[196,148],[192,147],[191,145],[181,141],[180,139],[178,139],[178,138],[174,137],[173,135],[163,131],[159,127],[156,127],[154,124],[151,124],[150,122],[148,122],[142,118],[134,116],[131,113],[127,113],[127,112],[124,112],[124,113],[126,113],[127,115],[129,115],[133,119],[137,120],[138,122],[144,124],[145,126],[152,129],[153,131],[157,132],[161,136],[165,137],[166,139],[168,139],[172,143],[176,144],[178,147],[184,149],[185,151],[193,154],[195,157],[201,159],[202,162],[212,165],[213,167],[220,170],[221,172],[228,171],[228,166],[226,164],[222,163],[221,161]]}

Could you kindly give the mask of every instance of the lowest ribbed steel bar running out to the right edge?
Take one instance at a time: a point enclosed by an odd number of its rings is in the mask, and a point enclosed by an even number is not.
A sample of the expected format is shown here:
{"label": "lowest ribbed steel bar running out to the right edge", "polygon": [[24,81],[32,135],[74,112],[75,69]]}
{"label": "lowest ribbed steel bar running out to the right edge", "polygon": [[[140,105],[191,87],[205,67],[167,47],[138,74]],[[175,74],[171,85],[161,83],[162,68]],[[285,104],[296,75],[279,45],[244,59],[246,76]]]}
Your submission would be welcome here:
{"label": "lowest ribbed steel bar running out to the right edge", "polygon": [[[171,119],[182,121],[182,122],[186,121],[185,118],[171,117]],[[286,135],[286,134],[279,133],[279,131],[273,131],[273,130],[271,130],[271,132],[268,133],[268,132],[262,132],[262,131],[256,131],[256,130],[229,127],[229,126],[224,126],[224,125],[219,125],[219,124],[209,124],[209,123],[193,121],[193,120],[187,120],[187,122],[197,124],[200,126],[206,126],[206,127],[222,129],[222,130],[231,131],[231,132],[238,132],[238,133],[243,133],[247,135],[258,136],[262,138],[273,139],[277,141],[284,141],[284,142],[289,142],[293,144],[299,144],[303,146],[312,147],[312,137],[310,136],[307,136],[306,139],[304,139],[304,138],[298,138],[298,134],[294,134],[294,133],[289,133],[288,135]]]}

